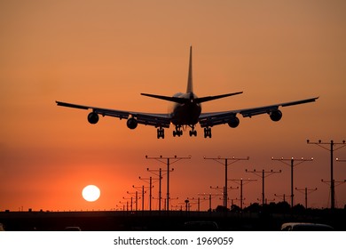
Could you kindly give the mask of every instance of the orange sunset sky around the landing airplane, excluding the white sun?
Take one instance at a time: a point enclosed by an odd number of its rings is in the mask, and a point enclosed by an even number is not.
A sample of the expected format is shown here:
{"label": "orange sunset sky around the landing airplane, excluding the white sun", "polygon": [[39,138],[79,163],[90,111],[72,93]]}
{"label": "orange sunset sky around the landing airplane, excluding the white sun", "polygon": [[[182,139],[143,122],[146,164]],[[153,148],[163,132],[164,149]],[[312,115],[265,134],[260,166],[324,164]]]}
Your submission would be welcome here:
{"label": "orange sunset sky around the landing airplane, excluding the white sun", "polygon": [[[132,185],[147,185],[138,180],[150,176],[147,167],[165,168],[145,155],[192,156],[173,165],[173,205],[224,186],[224,167],[204,156],[250,157],[229,167],[230,179],[258,179],[245,169],[281,169],[266,179],[268,199],[290,194],[289,167],[271,157],[314,157],[295,167],[295,187],[318,188],[309,204],[326,207],[321,179],[330,180],[330,155],[306,139],[346,139],[345,8],[344,1],[1,1],[0,210],[116,208]],[[198,96],[244,91],[204,111],[320,98],[282,108],[279,123],[240,117],[237,129],[216,126],[207,140],[199,125],[197,138],[173,138],[170,128],[157,140],[153,127],[130,131],[111,117],[93,126],[88,112],[55,104],[166,112],[169,103],[139,93],[184,92],[190,44]],[[346,159],[346,148],[334,156]],[[334,179],[346,179],[346,163],[334,164]],[[95,203],[82,198],[88,184],[101,189]],[[166,178],[162,184],[165,196]],[[245,186],[245,203],[261,191],[260,179]],[[343,207],[346,184],[335,191]],[[240,198],[239,190],[229,195]],[[303,200],[296,192],[295,203]]]}

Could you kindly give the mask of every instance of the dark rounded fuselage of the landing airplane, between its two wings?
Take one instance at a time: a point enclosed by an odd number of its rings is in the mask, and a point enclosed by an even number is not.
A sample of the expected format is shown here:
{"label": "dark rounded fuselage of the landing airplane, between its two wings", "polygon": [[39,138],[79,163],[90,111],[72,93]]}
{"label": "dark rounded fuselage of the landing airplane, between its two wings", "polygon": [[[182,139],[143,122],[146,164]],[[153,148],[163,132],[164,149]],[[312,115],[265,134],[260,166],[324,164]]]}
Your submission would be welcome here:
{"label": "dark rounded fuselage of the landing airplane, between its two wings", "polygon": [[186,101],[183,104],[174,103],[173,110],[171,112],[171,122],[174,125],[194,125],[199,121],[201,115],[201,104],[196,103],[194,99],[197,96],[193,92],[177,93],[174,95],[177,98],[183,98],[190,101]]}

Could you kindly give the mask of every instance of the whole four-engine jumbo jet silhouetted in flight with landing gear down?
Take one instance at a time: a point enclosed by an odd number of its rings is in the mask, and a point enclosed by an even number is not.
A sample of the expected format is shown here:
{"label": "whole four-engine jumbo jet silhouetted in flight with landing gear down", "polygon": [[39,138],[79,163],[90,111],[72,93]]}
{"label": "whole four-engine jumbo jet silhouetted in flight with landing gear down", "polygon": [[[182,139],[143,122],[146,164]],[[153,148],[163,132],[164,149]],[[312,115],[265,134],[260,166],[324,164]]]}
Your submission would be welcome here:
{"label": "whole four-engine jumbo jet silhouetted in flight with landing gear down", "polygon": [[114,116],[117,118],[127,119],[127,126],[133,130],[136,129],[138,124],[145,124],[154,126],[157,129],[157,138],[164,139],[164,129],[169,128],[170,124],[175,126],[173,131],[174,137],[180,137],[183,134],[185,128],[190,128],[190,136],[197,136],[195,130],[196,124],[200,124],[201,128],[204,129],[204,137],[211,138],[211,127],[218,124],[228,124],[232,128],[236,128],[240,124],[238,114],[243,117],[251,117],[260,114],[268,114],[271,120],[278,122],[282,117],[282,112],[279,107],[288,107],[304,103],[313,102],[318,99],[311,98],[305,100],[296,100],[286,103],[279,103],[270,106],[257,107],[257,108],[244,108],[239,110],[226,110],[220,112],[201,112],[201,103],[217,100],[224,97],[240,94],[242,92],[232,92],[216,96],[197,97],[193,92],[193,48],[190,46],[190,60],[188,68],[188,79],[186,92],[176,93],[172,97],[154,95],[149,93],[141,93],[141,95],[152,97],[160,100],[167,100],[173,102],[173,108],[171,113],[143,113],[137,111],[125,111],[110,108],[97,108],[84,105],[77,105],[72,103],[56,101],[58,106],[67,108],[80,108],[90,109],[91,112],[88,115],[88,121],[90,124],[97,124],[99,116]]}

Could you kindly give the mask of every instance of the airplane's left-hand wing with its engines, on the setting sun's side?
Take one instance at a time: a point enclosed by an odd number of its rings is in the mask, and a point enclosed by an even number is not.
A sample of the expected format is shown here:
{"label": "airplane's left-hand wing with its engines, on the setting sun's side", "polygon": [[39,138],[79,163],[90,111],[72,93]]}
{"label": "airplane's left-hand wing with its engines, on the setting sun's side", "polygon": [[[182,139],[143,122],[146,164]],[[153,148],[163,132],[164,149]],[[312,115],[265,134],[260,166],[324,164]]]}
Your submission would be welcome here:
{"label": "airplane's left-hand wing with its engines, on the setting sun's side", "polygon": [[72,103],[56,101],[58,106],[67,107],[67,108],[80,108],[80,109],[91,109],[91,113],[88,116],[88,121],[90,124],[98,123],[98,115],[101,116],[114,116],[119,119],[129,119],[131,124],[135,126],[128,126],[131,129],[137,127],[137,124],[152,125],[155,127],[169,128],[170,116],[168,114],[155,114],[155,113],[143,113],[135,111],[125,111],[125,110],[116,110],[109,108],[97,108],[90,106],[77,105]]}

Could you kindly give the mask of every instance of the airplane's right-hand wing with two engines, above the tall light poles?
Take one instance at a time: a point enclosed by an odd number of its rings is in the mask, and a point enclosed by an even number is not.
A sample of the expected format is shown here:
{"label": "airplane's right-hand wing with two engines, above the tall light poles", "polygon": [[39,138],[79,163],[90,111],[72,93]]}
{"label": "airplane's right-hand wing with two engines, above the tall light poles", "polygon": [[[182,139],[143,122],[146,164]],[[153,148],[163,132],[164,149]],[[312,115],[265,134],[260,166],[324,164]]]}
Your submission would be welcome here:
{"label": "airplane's right-hand wing with two engines, above the tall light poles", "polygon": [[210,113],[202,113],[200,116],[200,124],[201,127],[211,127],[218,124],[229,124],[231,127],[235,128],[239,124],[239,119],[237,114],[241,114],[244,117],[251,117],[260,114],[269,114],[271,116],[272,121],[279,121],[281,119],[282,113],[279,110],[279,107],[289,107],[294,105],[305,104],[309,102],[314,102],[318,99],[311,98],[306,100],[297,100],[285,103],[279,103],[271,106],[264,106],[259,108],[245,108],[239,110],[229,110],[222,112],[210,112]]}

